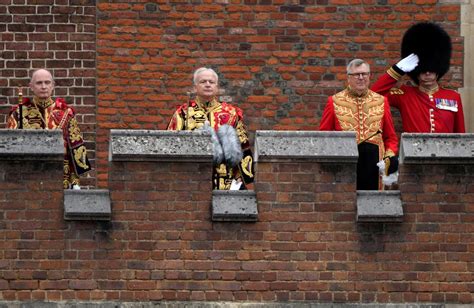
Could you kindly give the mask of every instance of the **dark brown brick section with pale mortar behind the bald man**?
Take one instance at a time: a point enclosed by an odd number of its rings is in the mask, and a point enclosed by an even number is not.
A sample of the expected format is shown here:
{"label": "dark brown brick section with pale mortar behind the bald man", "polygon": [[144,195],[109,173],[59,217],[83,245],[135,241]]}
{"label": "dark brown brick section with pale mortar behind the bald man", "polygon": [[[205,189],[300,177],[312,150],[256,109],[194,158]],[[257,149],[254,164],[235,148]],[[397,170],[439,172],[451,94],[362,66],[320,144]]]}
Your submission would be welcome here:
{"label": "dark brown brick section with pale mortar behind the bald man", "polygon": [[[95,161],[96,6],[92,0],[0,1],[0,127],[18,102],[17,87],[39,68],[49,69],[54,95],[74,107],[89,157]],[[83,180],[96,186],[95,171]]]}

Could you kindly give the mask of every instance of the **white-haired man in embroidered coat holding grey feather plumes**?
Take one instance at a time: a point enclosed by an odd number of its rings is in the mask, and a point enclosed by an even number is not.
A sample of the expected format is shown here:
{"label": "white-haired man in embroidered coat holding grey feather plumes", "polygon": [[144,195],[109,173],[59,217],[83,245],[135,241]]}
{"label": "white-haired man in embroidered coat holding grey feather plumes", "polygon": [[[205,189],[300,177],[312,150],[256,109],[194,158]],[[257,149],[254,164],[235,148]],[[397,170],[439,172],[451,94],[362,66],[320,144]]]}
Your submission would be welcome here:
{"label": "white-haired man in embroidered coat holding grey feather plumes", "polygon": [[242,110],[218,101],[219,80],[214,70],[201,67],[193,79],[196,99],[178,106],[168,130],[209,128],[214,141],[213,189],[246,189],[254,175]]}

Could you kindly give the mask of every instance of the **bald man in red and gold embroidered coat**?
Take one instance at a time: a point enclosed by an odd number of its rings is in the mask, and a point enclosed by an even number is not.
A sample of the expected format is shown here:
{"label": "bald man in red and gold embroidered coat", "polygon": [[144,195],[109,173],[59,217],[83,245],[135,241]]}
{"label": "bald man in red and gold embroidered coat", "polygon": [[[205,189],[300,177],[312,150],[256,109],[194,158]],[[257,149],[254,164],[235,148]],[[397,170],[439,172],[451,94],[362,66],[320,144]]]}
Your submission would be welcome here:
{"label": "bald man in red and gold embroidered coat", "polygon": [[13,106],[7,128],[21,128],[21,121],[24,129],[61,129],[64,138],[63,186],[64,189],[80,189],[79,175],[86,173],[91,167],[74,110],[66,105],[64,99],[53,100],[51,97],[54,80],[48,70],[33,72],[29,86],[34,94],[33,98],[24,98],[21,105]]}

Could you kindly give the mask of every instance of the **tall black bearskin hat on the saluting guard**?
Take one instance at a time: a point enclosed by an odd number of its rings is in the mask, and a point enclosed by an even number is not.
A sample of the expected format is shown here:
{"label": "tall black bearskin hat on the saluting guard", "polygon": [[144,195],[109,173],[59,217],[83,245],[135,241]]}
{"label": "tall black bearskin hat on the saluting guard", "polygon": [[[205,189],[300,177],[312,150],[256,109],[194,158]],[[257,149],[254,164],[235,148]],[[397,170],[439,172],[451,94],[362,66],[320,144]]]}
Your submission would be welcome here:
{"label": "tall black bearskin hat on the saluting guard", "polygon": [[435,72],[438,80],[449,70],[451,60],[451,38],[441,26],[421,22],[411,26],[403,35],[401,58],[415,53],[420,62],[408,75],[418,84],[422,72]]}

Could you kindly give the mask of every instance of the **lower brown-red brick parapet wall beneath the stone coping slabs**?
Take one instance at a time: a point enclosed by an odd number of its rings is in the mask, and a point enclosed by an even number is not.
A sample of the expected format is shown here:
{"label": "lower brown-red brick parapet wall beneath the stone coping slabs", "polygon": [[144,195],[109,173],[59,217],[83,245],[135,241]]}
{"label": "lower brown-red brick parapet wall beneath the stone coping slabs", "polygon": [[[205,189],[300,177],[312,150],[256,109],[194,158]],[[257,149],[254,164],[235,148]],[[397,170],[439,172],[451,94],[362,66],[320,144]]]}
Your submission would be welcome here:
{"label": "lower brown-red brick parapet wall beneath the stone coping slabs", "polygon": [[260,163],[256,223],[210,221],[210,163],[113,163],[109,223],[3,166],[3,300],[474,301],[473,165],[403,166],[399,224],[355,222],[353,164]]}

